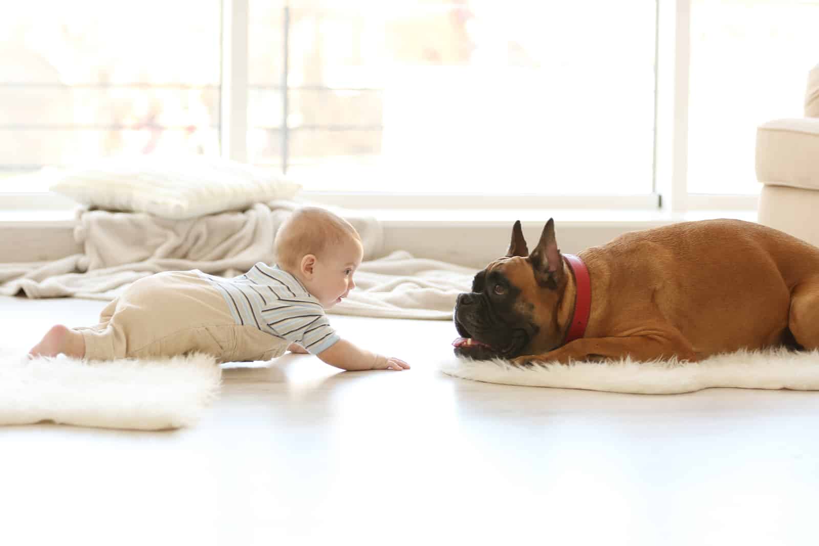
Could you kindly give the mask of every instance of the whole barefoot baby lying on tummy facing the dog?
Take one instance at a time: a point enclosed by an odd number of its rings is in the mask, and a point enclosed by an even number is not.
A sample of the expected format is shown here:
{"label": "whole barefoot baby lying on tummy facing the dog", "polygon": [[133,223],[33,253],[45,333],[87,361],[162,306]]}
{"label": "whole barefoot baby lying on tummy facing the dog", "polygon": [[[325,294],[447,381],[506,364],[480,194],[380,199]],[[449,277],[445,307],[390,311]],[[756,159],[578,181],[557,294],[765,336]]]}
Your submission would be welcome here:
{"label": "whole barefoot baby lying on tummy facing the dog", "polygon": [[409,369],[339,338],[324,309],[355,288],[364,256],[355,228],[323,208],[301,208],[279,227],[277,266],[259,262],[224,279],[198,270],[140,279],[102,310],[100,324],[48,330],[30,356],[86,360],[200,351],[219,362],[311,353],[341,369]]}

